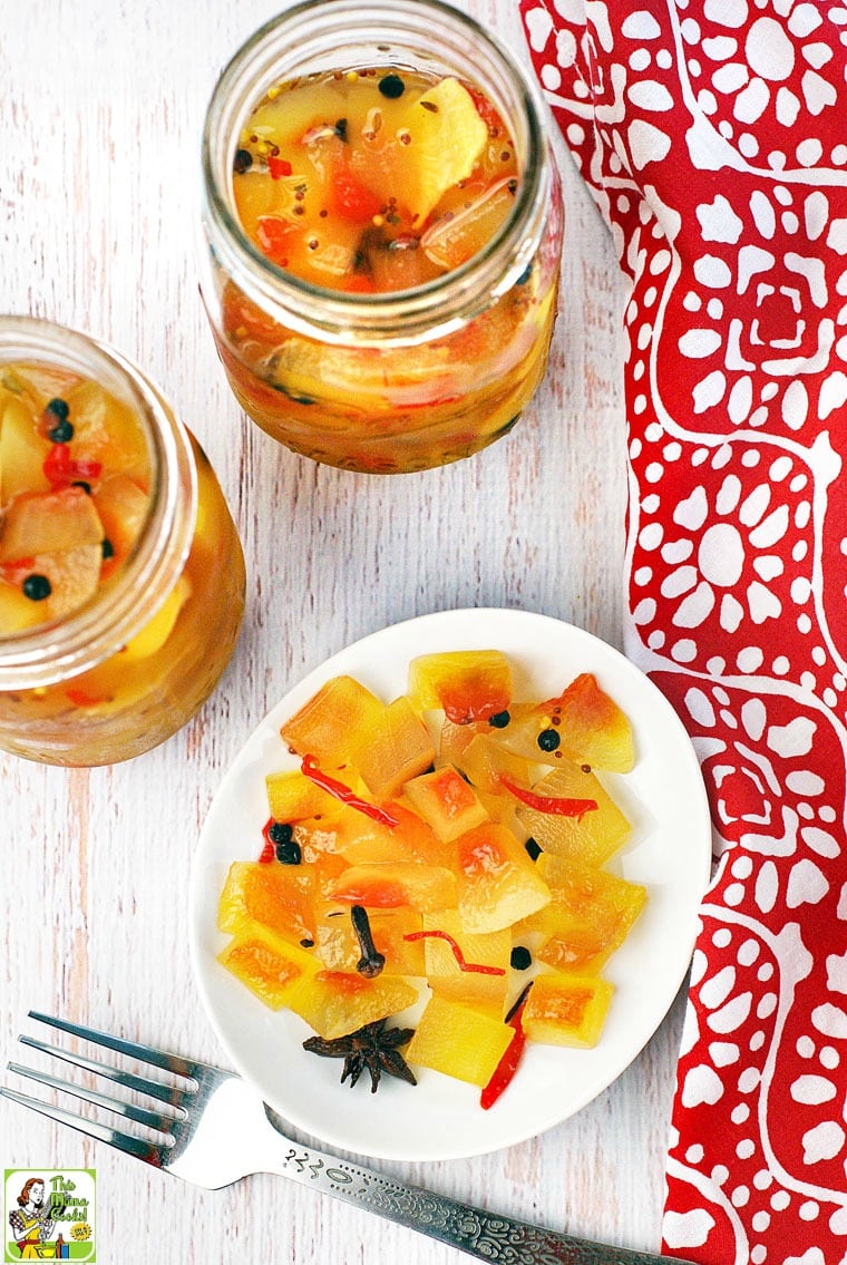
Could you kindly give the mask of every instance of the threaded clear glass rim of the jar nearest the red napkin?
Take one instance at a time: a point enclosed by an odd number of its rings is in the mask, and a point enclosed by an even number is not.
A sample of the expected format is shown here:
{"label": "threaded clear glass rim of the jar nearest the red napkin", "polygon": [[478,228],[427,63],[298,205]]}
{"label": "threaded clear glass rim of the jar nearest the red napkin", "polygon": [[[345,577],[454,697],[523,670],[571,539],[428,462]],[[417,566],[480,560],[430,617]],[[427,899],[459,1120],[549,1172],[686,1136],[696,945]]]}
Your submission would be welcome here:
{"label": "threaded clear glass rim of the jar nearest the red napkin", "polygon": [[[473,48],[475,73],[494,73],[499,95],[507,86],[512,113],[520,109],[525,133],[522,170],[509,215],[470,259],[408,290],[363,296],[316,286],[279,268],[241,228],[231,192],[233,159],[241,126],[267,86],[279,80],[279,73],[273,73],[279,57],[296,49],[302,62],[332,32],[343,35],[334,49],[339,59],[355,46],[356,38],[365,35],[374,49],[384,44],[387,32],[396,38],[431,39],[434,14],[445,23],[456,46],[468,42]],[[382,23],[378,29],[375,19]],[[446,44],[439,46],[442,56],[445,49]],[[455,49],[451,52],[460,56]],[[503,106],[502,100],[497,104]],[[406,336],[421,333],[427,338],[444,336],[509,290],[535,254],[540,209],[546,207],[551,185],[544,114],[544,99],[522,63],[492,32],[445,0],[301,0],[254,32],[230,58],[214,87],[201,147],[204,220],[212,250],[248,297],[281,324],[301,333],[329,336],[340,333],[355,343],[383,345],[394,340],[402,323]]]}

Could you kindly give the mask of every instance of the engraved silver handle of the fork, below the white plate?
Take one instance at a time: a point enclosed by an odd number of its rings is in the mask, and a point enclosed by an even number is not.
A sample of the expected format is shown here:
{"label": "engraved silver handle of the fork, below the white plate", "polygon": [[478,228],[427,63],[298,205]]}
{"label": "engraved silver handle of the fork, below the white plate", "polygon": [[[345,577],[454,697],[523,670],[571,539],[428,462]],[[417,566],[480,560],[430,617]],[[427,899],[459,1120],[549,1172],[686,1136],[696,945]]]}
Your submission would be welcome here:
{"label": "engraved silver handle of the fork, below the white plate", "polygon": [[[293,1178],[301,1185],[368,1208],[497,1265],[659,1265],[667,1261],[652,1252],[574,1238],[456,1203],[422,1187],[403,1185],[340,1156],[296,1145],[278,1131],[277,1141],[282,1145],[267,1156],[265,1171]],[[676,1265],[692,1262],[678,1260]]]}

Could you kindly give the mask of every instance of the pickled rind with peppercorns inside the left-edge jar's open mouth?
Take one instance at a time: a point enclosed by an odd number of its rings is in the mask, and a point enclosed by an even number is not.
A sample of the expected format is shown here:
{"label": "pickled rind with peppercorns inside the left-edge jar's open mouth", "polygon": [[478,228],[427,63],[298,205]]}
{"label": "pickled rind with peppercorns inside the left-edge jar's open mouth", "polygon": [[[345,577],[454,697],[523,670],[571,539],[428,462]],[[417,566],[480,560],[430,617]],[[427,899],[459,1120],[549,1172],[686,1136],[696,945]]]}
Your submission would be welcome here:
{"label": "pickled rind with peppercorns inside the left-edge jar's open mouth", "polygon": [[[133,496],[115,495],[121,481]],[[49,366],[0,369],[0,636],[63,620],[97,593],[143,530],[149,481],[139,419],[99,383]],[[154,653],[157,635],[131,657]]]}

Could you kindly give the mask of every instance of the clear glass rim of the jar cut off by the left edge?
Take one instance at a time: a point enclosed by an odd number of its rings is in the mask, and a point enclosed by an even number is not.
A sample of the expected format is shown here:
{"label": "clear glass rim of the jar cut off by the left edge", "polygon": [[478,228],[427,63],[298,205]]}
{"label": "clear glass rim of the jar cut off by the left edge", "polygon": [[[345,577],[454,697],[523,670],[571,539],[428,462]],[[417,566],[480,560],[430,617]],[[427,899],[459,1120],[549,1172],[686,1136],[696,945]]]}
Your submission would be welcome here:
{"label": "clear glass rim of the jar cut off by the left edge", "polygon": [[107,343],[37,316],[0,315],[4,366],[61,367],[128,405],[147,440],[149,507],[140,535],[109,584],[68,616],[0,636],[0,689],[53,684],[101,663],[153,617],[188,555],[197,505],[188,435],[140,369]]}

